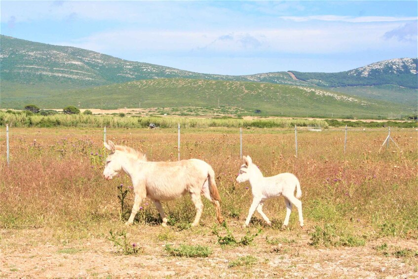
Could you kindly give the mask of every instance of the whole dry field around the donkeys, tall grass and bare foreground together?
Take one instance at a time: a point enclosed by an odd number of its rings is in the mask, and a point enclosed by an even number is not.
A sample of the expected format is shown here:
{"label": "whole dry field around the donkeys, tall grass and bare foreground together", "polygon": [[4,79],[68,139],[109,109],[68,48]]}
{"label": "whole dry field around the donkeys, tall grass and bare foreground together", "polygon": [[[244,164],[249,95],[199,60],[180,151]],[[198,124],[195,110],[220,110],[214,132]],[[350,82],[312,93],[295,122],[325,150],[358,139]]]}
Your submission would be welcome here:
{"label": "whole dry field around the donkeys, tall grass and bare foreground together", "polygon": [[[5,130],[5,129],[4,129]],[[103,130],[13,128],[10,164],[0,134],[1,278],[418,278],[418,134],[391,129],[245,129],[243,154],[265,176],[292,172],[302,187],[304,228],[282,198],[268,200],[268,227],[235,177],[239,131],[183,129],[181,158],[215,170],[227,226],[204,201],[191,228],[190,197],[163,202],[169,226],[150,200],[124,226],[133,193],[126,175],[105,181]],[[108,129],[107,138],[177,160],[177,129]],[[123,204],[122,204],[123,201]]]}

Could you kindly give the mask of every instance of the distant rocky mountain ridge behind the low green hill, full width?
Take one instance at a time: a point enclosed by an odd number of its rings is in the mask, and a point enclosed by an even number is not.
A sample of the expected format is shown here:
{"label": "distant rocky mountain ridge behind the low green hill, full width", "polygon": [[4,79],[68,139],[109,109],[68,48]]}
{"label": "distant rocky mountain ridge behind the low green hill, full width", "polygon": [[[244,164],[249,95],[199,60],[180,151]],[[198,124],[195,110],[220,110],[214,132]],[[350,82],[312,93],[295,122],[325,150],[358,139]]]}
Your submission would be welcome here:
{"label": "distant rocky mountain ridge behind the low green hill, full width", "polygon": [[186,78],[237,80],[290,85],[373,86],[399,85],[418,88],[418,59],[399,58],[376,62],[339,73],[290,71],[244,76],[201,74],[149,63],[119,59],[71,46],[58,46],[0,36],[1,80],[20,83],[71,83],[72,86],[98,86],[133,80]]}

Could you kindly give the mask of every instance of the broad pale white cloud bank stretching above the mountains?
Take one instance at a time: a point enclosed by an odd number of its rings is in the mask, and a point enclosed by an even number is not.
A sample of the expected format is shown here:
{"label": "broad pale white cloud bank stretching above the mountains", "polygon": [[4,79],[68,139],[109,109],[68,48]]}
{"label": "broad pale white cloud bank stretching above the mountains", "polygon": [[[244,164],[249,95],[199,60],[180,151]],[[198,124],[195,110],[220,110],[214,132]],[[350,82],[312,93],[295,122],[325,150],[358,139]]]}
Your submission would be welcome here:
{"label": "broad pale white cloud bank stretching above the mountains", "polygon": [[[115,30],[97,33],[76,41],[57,44],[73,45],[103,53],[120,49],[147,53],[200,53],[225,55],[257,55],[257,53],[338,53],[399,47],[385,34],[399,27],[398,23],[364,24],[324,27],[276,28],[209,31],[144,31]],[[404,41],[403,43],[411,43]],[[413,43],[413,42],[412,42]]]}

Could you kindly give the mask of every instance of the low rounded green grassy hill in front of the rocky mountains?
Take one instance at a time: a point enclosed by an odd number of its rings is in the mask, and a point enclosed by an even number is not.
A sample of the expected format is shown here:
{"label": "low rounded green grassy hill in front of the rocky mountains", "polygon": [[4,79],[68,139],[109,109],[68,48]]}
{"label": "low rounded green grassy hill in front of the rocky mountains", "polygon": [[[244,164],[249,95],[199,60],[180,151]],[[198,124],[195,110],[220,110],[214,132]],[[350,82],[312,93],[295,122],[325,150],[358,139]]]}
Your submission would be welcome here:
{"label": "low rounded green grassy hill in front of the rocky mountains", "polygon": [[[324,91],[323,92],[329,92]],[[3,104],[24,105],[27,99],[5,96]],[[35,100],[31,100],[35,101]],[[378,117],[405,107],[386,102],[338,101],[334,97],[319,96],[302,87],[271,83],[157,79],[140,80],[95,88],[69,90],[56,96],[37,98],[40,107],[61,108],[78,105],[80,108],[142,108],[151,107],[217,107],[235,106],[246,110],[261,110],[262,115]],[[4,107],[4,106],[3,106]]]}

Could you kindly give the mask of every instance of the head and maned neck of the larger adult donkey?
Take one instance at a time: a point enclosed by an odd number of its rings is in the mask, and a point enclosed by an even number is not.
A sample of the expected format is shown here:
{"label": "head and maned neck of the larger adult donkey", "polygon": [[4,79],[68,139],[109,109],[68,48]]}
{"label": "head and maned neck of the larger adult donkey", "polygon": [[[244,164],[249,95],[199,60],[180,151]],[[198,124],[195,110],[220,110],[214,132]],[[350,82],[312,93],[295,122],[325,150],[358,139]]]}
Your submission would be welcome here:
{"label": "head and maned neck of the larger adult donkey", "polygon": [[114,145],[112,141],[109,144],[104,143],[107,150],[110,151],[106,158],[105,170],[103,177],[107,180],[112,179],[122,169],[122,165],[129,159],[146,161],[144,154],[127,146]]}

